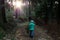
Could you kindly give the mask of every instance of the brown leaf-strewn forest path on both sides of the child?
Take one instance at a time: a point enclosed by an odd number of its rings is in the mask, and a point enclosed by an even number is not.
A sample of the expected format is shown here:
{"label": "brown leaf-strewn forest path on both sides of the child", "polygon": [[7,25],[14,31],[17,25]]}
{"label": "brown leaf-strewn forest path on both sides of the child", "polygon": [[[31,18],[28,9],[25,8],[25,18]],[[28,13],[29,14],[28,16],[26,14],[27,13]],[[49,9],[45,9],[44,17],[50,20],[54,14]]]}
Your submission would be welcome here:
{"label": "brown leaf-strewn forest path on both sides of the child", "polygon": [[[26,23],[17,23],[17,27],[11,31],[11,33],[6,34],[3,39],[0,40],[32,40],[29,37],[29,34],[26,32],[26,27],[28,22]],[[53,40],[49,35],[47,35],[46,31],[40,26],[35,26],[35,36],[34,40]]]}

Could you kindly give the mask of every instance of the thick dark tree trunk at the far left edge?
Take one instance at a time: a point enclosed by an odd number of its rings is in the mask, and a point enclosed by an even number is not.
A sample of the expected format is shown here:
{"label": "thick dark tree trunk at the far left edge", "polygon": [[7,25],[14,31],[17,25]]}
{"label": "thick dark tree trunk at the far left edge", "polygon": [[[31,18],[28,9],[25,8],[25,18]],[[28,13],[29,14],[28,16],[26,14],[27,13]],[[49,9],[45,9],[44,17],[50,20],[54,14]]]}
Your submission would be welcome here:
{"label": "thick dark tree trunk at the far left edge", "polygon": [[4,23],[7,22],[5,15],[5,3],[4,0],[0,0],[0,14]]}

